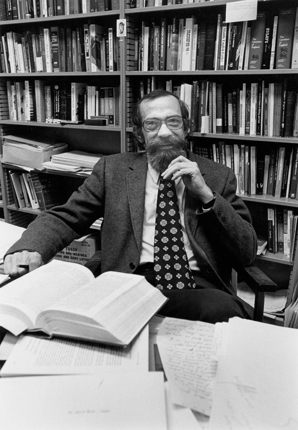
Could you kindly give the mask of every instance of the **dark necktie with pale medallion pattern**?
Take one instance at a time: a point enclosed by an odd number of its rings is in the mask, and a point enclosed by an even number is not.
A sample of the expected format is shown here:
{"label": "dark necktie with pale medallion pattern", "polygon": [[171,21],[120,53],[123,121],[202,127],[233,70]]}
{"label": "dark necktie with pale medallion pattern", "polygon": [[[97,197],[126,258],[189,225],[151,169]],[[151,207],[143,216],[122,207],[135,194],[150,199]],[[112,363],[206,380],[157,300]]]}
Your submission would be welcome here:
{"label": "dark necktie with pale medallion pattern", "polygon": [[163,178],[157,194],[154,281],[158,289],[196,288],[184,249],[175,181]]}

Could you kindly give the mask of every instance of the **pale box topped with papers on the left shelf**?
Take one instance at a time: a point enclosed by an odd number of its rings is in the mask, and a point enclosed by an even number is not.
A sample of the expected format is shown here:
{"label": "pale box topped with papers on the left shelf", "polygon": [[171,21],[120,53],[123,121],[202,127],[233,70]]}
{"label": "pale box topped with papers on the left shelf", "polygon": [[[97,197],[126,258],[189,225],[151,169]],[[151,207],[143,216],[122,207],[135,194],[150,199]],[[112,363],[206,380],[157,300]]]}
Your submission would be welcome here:
{"label": "pale box topped with papers on the left shelf", "polygon": [[40,142],[8,135],[3,138],[3,163],[42,170],[42,163],[67,150],[65,143]]}

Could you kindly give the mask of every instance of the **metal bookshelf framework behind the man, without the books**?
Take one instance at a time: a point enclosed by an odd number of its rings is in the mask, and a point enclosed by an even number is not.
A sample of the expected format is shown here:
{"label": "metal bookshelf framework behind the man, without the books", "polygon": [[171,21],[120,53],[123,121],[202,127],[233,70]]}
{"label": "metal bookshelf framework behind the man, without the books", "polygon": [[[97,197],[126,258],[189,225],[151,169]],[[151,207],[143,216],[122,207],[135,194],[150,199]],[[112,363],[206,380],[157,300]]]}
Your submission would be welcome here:
{"label": "metal bookshelf framework behind the man, without the books", "polygon": [[[34,73],[0,73],[0,85],[6,85],[6,81],[16,80],[45,80],[48,84],[63,82],[84,82],[90,86],[119,86],[120,93],[120,125],[119,126],[85,126],[84,124],[48,124],[36,121],[12,121],[7,117],[1,117],[0,129],[2,136],[7,134],[19,133],[21,135],[38,138],[44,135],[51,135],[56,140],[64,141],[69,145],[69,150],[81,150],[90,153],[116,154],[120,152],[136,151],[136,145],[132,138],[131,110],[132,106],[139,97],[141,80],[146,87],[147,80],[152,78],[161,86],[166,87],[166,81],[172,80],[175,83],[192,84],[195,80],[209,80],[215,83],[223,83],[223,86],[230,86],[232,83],[241,86],[245,83],[260,82],[261,80],[275,81],[286,78],[289,81],[290,89],[297,91],[298,69],[261,69],[261,70],[135,70],[135,53],[139,52],[135,45],[135,32],[141,28],[142,22],[160,23],[163,18],[167,22],[175,17],[190,18],[192,15],[198,22],[216,19],[218,14],[225,15],[226,4],[229,0],[205,1],[201,3],[175,4],[154,7],[131,8],[132,0],[120,2],[119,9],[106,10],[102,12],[79,13],[73,15],[49,16],[46,18],[17,19],[10,21],[0,21],[0,33],[3,35],[9,31],[35,31],[40,27],[63,26],[65,28],[83,27],[84,24],[96,23],[105,27],[115,29],[117,18],[126,18],[126,37],[119,38],[119,70],[117,71],[62,71],[57,73],[34,72]],[[278,11],[283,6],[297,7],[297,0],[258,0],[258,12],[260,10]],[[239,133],[201,133],[195,131],[192,136],[193,145],[198,144],[212,145],[218,140],[224,140],[229,144],[256,145],[264,148],[290,146],[298,144],[297,138],[279,136],[259,136]],[[2,145],[2,144],[1,144]],[[2,152],[2,147],[0,147]],[[15,166],[2,164],[0,169],[0,179],[3,193],[3,203],[0,201],[0,218],[18,225],[28,224],[37,213],[38,209],[16,209],[11,199],[10,182],[8,178],[9,169],[16,169]],[[48,172],[53,174],[53,172]],[[67,176],[70,178],[73,187],[79,185],[84,180],[84,174],[65,174],[56,172],[55,175]],[[247,205],[256,204],[267,210],[269,206],[283,206],[295,209],[298,212],[298,200],[286,197],[277,198],[267,194],[263,195],[243,195],[241,197]],[[93,227],[96,228],[96,227]],[[272,273],[272,267],[277,265],[280,273],[289,285],[291,294],[295,283],[298,280],[298,253],[296,253],[297,237],[294,246],[293,261],[289,261],[280,252],[259,256],[257,264],[262,270],[267,270],[268,275]],[[297,255],[296,255],[297,254]],[[279,281],[277,282],[279,283]]]}

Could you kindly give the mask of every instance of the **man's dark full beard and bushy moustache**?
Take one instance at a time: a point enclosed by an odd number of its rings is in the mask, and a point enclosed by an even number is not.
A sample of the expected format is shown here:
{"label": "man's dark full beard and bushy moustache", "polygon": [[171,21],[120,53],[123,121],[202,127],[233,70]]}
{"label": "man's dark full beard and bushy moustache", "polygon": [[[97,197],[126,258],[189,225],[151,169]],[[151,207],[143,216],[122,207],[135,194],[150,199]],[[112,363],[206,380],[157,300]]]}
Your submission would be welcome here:
{"label": "man's dark full beard and bushy moustache", "polygon": [[[164,144],[171,144],[171,148],[164,148]],[[159,173],[164,172],[172,160],[183,155],[186,157],[188,142],[182,137],[168,136],[156,137],[146,146],[148,163]]]}

